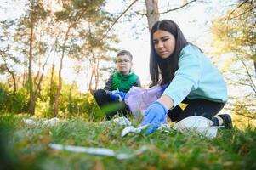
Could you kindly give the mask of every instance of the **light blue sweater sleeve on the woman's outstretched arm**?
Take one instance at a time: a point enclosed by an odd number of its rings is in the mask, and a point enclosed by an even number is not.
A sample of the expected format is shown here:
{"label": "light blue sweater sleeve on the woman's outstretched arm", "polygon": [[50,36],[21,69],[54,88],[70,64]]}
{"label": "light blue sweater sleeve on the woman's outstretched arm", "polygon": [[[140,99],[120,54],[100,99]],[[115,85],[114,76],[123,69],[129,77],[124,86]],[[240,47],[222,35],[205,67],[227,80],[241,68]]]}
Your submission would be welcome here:
{"label": "light blue sweater sleeve on the woman's outstretched arm", "polygon": [[173,81],[163,92],[163,95],[168,95],[174,100],[174,107],[179,105],[190,94],[191,90],[198,88],[198,82],[202,75],[200,54],[195,53],[195,51],[181,53],[178,67],[179,69],[175,72]]}

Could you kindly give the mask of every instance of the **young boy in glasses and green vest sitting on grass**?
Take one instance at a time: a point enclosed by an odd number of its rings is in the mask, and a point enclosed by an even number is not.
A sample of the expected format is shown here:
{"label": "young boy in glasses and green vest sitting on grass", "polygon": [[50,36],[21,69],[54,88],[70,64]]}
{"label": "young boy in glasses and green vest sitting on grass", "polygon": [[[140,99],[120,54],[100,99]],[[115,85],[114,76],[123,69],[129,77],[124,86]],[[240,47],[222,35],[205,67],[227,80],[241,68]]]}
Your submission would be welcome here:
{"label": "young boy in glasses and green vest sitting on grass", "polygon": [[94,99],[105,112],[106,120],[110,120],[121,111],[127,115],[128,105],[124,103],[125,94],[132,86],[140,87],[139,77],[131,71],[133,55],[127,50],[117,53],[117,71],[115,71],[105,83],[104,89],[98,89],[94,93]]}

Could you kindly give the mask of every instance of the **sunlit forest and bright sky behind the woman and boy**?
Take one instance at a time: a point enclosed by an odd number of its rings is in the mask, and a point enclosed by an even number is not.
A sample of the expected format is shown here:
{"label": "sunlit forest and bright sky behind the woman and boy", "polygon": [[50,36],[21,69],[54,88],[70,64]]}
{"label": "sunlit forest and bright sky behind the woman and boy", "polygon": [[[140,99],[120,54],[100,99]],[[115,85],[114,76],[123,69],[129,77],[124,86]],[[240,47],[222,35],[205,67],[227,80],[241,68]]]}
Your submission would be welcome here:
{"label": "sunlit forest and bright sky behind the woman and boy", "polygon": [[176,21],[225,76],[224,112],[253,123],[255,1],[2,1],[0,111],[35,117],[101,119],[92,95],[115,70],[115,54],[134,54],[134,72],[150,82],[149,30]]}

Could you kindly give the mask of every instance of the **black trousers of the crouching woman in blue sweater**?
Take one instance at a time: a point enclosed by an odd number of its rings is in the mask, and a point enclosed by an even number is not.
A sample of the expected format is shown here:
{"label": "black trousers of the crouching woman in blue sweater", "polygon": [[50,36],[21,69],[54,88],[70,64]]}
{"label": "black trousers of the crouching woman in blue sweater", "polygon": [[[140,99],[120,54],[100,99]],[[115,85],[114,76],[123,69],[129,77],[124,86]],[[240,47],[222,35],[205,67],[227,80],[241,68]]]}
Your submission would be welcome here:
{"label": "black trousers of the crouching woman in blue sweater", "polygon": [[[185,110],[179,105],[168,111],[168,116],[172,122],[179,122],[188,116],[204,116],[210,120],[216,119],[219,111],[224,107],[225,103],[213,102],[207,99],[184,99],[181,103],[187,104]],[[213,122],[215,122],[213,120]]]}

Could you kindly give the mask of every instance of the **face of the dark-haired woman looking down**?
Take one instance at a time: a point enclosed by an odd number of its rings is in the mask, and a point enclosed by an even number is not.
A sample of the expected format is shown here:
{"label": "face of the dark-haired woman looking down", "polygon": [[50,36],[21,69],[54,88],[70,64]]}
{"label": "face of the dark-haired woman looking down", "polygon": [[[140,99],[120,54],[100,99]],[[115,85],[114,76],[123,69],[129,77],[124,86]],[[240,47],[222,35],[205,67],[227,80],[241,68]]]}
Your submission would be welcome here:
{"label": "face of the dark-haired woman looking down", "polygon": [[153,43],[156,53],[162,59],[167,59],[171,54],[174,53],[175,37],[168,31],[155,31],[153,33]]}

